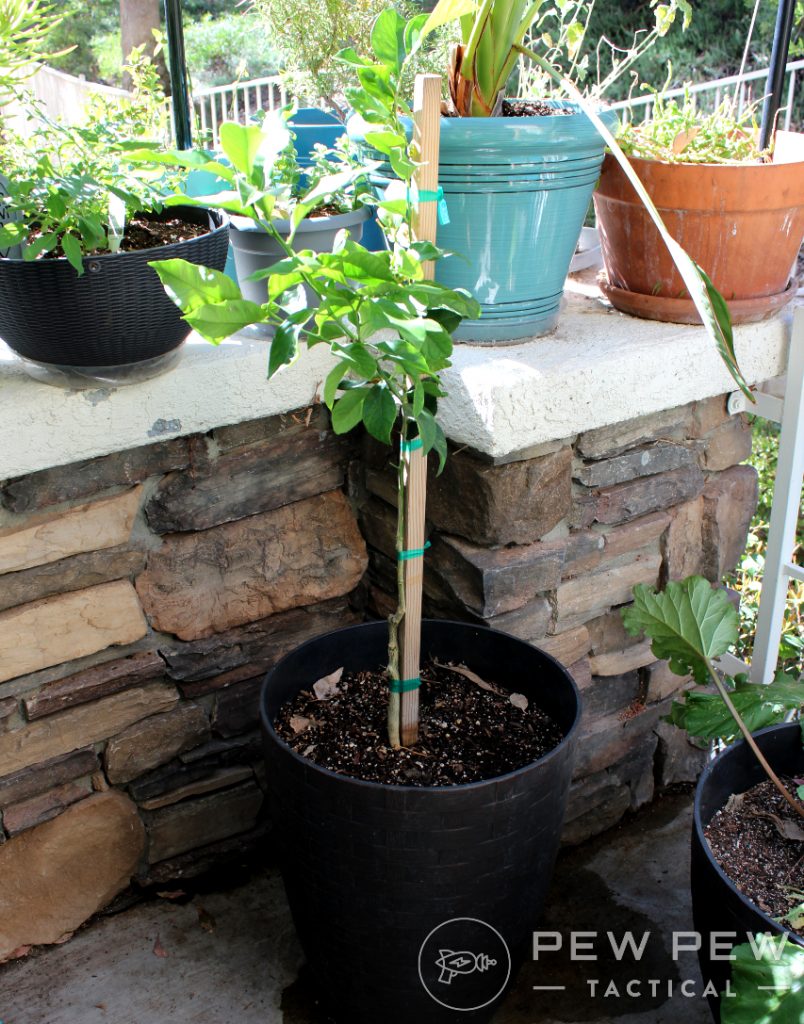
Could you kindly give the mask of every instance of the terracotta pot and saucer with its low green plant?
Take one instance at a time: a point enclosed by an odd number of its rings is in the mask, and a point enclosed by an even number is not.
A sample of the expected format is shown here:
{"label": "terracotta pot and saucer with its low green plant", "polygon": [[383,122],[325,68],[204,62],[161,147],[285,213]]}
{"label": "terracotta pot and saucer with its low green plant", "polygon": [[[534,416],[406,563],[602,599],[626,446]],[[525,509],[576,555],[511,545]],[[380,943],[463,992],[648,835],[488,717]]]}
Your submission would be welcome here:
{"label": "terracotta pot and saucer with its low green plant", "polygon": [[[796,294],[804,239],[804,135],[778,131],[760,153],[751,110],[713,114],[658,94],[644,124],[619,141],[671,234],[713,280],[732,323],[764,319]],[[697,323],[683,281],[616,160],[594,196],[611,304],[649,319]],[[757,259],[757,253],[762,258]]]}

